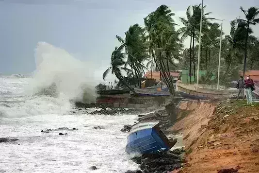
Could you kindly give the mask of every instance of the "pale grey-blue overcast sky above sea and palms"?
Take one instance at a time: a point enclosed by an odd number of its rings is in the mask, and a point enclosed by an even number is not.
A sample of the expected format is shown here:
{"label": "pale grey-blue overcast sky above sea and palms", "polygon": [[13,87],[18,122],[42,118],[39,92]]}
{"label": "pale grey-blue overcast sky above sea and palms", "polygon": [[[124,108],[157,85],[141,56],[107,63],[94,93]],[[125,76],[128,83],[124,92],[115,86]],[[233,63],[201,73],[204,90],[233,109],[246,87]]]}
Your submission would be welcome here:
{"label": "pale grey-blue overcast sky above sea and palms", "polygon": [[[178,17],[186,17],[189,5],[201,0],[0,0],[0,73],[35,70],[34,49],[45,41],[65,49],[81,61],[96,64],[97,73],[110,63],[110,55],[130,25],[143,25],[143,18],[162,4]],[[239,9],[259,7],[259,0],[204,0],[211,17],[229,21],[243,17]],[[254,29],[259,35],[259,27]]]}

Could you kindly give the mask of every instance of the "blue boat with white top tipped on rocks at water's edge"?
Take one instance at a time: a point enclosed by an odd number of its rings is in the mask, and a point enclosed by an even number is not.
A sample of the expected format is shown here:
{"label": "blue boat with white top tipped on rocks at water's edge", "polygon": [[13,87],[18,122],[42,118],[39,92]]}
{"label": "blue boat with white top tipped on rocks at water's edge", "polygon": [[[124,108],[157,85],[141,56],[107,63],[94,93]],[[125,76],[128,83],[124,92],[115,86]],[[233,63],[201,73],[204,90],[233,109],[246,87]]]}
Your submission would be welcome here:
{"label": "blue boat with white top tipped on rocks at water's edge", "polygon": [[150,154],[168,151],[175,143],[176,141],[170,142],[163,134],[159,121],[139,122],[134,124],[129,132],[126,152]]}

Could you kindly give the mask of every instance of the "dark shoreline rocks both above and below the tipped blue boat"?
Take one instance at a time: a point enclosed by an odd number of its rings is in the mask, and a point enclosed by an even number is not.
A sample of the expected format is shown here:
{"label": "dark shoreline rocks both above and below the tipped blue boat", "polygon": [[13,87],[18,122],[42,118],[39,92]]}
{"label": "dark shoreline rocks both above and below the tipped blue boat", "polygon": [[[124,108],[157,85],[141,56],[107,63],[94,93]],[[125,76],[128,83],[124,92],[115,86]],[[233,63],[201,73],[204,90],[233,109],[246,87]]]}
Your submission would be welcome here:
{"label": "dark shoreline rocks both above and below the tipped blue boat", "polygon": [[[138,115],[137,121],[160,121],[161,130],[165,130],[172,125],[173,121],[165,108],[155,110],[149,114]],[[130,131],[131,125],[124,125],[121,131]],[[170,139],[171,140],[171,139]],[[175,141],[176,142],[176,141]],[[131,158],[139,165],[140,170],[127,171],[126,173],[168,173],[175,170],[177,173],[184,166],[183,149],[176,149],[163,153],[142,155]],[[172,172],[173,173],[173,172]]]}

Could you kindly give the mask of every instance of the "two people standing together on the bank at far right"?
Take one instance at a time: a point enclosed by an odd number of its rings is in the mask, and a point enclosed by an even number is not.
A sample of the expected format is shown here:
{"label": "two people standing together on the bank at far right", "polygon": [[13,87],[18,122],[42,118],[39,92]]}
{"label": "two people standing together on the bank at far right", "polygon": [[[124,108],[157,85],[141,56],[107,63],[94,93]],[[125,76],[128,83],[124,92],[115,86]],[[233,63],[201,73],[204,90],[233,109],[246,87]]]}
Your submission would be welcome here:
{"label": "two people standing together on the bank at far right", "polygon": [[254,81],[253,79],[250,78],[250,75],[247,75],[245,80],[243,79],[243,76],[240,76],[240,79],[238,80],[237,100],[241,93],[243,95],[243,100],[244,100],[244,90],[245,90],[247,104],[252,104],[252,87],[254,87]]}

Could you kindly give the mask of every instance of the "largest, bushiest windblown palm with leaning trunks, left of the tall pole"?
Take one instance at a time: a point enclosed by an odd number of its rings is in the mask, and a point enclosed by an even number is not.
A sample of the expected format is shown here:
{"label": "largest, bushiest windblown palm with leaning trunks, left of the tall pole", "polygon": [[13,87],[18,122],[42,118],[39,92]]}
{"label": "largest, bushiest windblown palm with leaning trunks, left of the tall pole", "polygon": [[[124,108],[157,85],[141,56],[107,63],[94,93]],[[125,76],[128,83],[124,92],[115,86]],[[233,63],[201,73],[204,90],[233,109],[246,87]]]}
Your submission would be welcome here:
{"label": "largest, bushiest windblown palm with leaning trunks, left of the tall pole", "polygon": [[173,80],[170,75],[169,63],[178,58],[180,48],[178,33],[175,31],[174,14],[166,5],[161,5],[155,12],[149,14],[146,20],[148,26],[149,52],[152,54],[156,67],[159,69],[171,94],[175,94]]}

